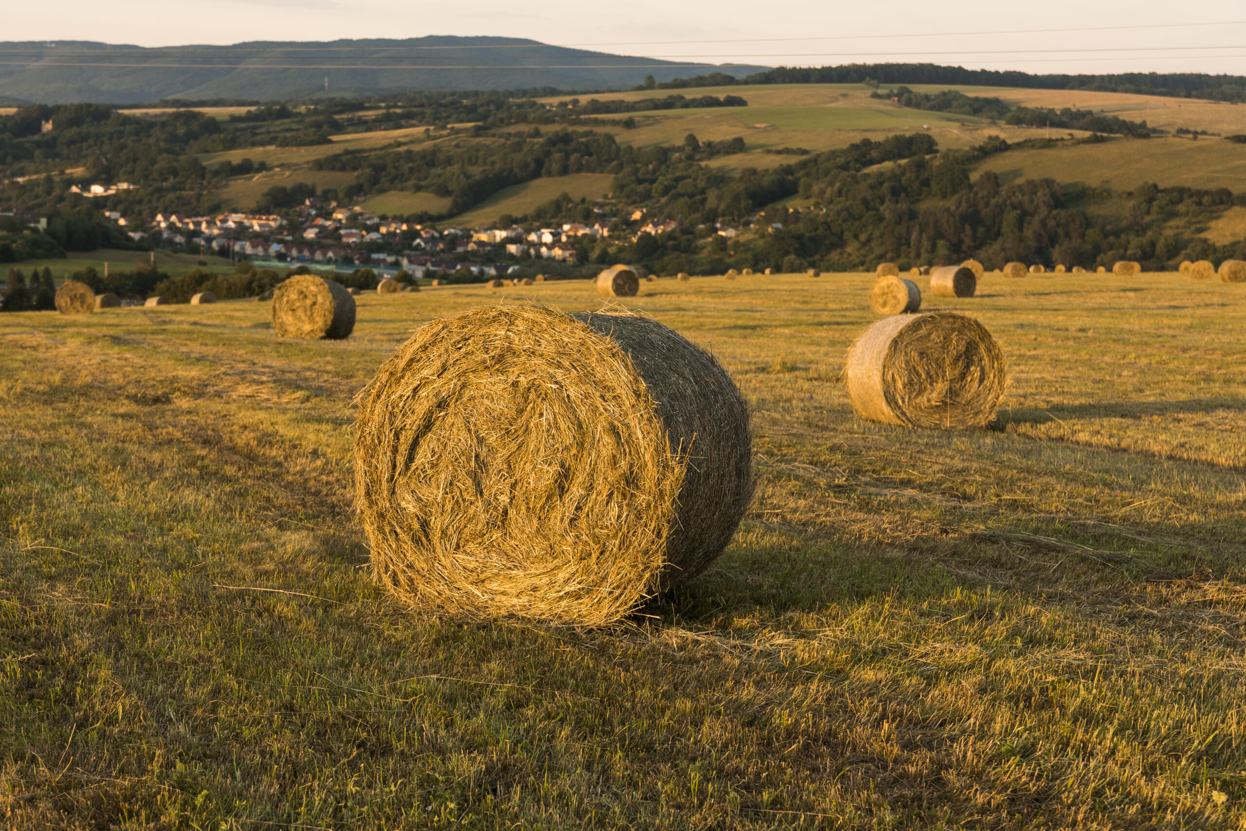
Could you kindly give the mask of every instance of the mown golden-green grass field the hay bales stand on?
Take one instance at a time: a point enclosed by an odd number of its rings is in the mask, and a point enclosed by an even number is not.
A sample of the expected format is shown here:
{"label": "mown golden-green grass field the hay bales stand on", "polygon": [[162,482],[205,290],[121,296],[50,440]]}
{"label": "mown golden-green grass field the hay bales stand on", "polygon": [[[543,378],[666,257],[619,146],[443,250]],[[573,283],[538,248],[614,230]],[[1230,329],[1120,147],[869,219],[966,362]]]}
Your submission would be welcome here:
{"label": "mown golden-green grass field the hay bales stand on", "polygon": [[1246,826],[1246,287],[927,297],[1009,365],[992,429],[939,432],[847,404],[870,284],[619,300],[736,379],[759,490],[709,572],[602,630],[399,608],[351,496],[353,396],[414,329],[597,309],[587,282],[365,294],[335,343],[254,302],[0,315],[0,816]]}

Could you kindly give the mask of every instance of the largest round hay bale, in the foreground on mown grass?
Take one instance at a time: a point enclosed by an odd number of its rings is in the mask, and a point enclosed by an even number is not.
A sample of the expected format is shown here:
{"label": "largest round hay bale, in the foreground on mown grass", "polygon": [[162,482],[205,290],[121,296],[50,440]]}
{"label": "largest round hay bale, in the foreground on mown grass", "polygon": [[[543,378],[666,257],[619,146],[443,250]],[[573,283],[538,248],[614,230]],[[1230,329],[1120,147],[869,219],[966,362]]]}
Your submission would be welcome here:
{"label": "largest round hay bale, in the foreground on mown grass", "polygon": [[751,498],[750,445],[726,371],[649,318],[434,320],[359,414],[373,573],[414,608],[608,624],[721,553]]}

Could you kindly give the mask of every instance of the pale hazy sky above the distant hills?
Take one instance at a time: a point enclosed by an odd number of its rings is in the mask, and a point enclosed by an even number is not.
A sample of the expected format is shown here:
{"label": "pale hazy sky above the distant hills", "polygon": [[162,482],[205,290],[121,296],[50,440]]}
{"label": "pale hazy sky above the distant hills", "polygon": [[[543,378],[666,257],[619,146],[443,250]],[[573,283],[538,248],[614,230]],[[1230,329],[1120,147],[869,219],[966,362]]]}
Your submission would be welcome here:
{"label": "pale hazy sky above the distant hills", "polygon": [[[630,0],[611,4],[569,0],[535,4],[513,0],[440,4],[409,0],[120,0],[111,4],[45,0],[5,5],[0,26],[0,37],[5,40],[174,46],[247,40],[503,35],[706,64],[822,66],[922,61],[1030,72],[1246,75],[1246,4],[1241,0],[1187,4],[1154,0],[1024,4],[999,0],[954,4],[926,0],[852,4],[826,0]],[[1174,25],[1182,22],[1216,25]],[[1159,27],[957,34],[1148,25]],[[936,36],[898,36],[922,32]],[[766,39],[816,40],[768,42]],[[734,42],[655,42],[713,40]]]}

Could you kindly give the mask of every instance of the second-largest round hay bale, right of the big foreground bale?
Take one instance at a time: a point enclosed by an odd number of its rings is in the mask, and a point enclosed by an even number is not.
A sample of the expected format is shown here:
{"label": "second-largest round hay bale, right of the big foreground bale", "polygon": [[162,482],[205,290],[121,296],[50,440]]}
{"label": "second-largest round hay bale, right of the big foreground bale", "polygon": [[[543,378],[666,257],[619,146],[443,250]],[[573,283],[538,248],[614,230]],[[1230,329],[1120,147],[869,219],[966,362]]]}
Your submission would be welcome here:
{"label": "second-largest round hay bale, right of the big foreground bale", "polygon": [[954,311],[883,318],[856,339],[845,366],[861,417],[943,430],[989,422],[1004,375],[987,328]]}

